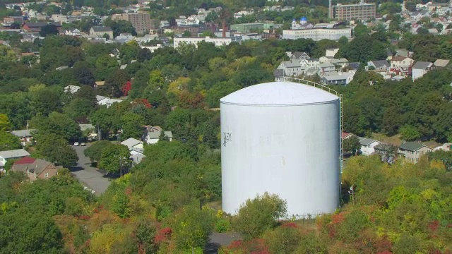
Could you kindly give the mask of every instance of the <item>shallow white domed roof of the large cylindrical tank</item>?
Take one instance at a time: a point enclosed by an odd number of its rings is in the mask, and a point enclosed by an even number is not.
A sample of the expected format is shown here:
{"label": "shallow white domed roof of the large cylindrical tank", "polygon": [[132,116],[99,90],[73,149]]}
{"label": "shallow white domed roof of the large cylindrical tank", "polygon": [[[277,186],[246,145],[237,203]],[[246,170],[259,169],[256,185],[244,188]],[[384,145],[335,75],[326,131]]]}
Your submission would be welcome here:
{"label": "shallow white domed roof of the large cylindrical tank", "polygon": [[291,82],[270,82],[245,87],[222,97],[221,103],[256,106],[322,104],[339,99],[320,88]]}

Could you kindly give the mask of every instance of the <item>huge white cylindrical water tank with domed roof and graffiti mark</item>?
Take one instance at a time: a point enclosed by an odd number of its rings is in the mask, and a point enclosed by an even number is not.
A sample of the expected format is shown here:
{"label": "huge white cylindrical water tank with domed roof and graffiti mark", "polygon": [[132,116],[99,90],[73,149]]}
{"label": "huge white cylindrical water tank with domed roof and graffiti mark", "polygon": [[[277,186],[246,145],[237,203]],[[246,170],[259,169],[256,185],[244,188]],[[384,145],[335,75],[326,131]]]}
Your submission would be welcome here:
{"label": "huge white cylindrical water tank with domed roof and graffiti mark", "polygon": [[288,82],[246,87],[220,99],[222,210],[265,192],[290,215],[334,212],[340,192],[340,99]]}

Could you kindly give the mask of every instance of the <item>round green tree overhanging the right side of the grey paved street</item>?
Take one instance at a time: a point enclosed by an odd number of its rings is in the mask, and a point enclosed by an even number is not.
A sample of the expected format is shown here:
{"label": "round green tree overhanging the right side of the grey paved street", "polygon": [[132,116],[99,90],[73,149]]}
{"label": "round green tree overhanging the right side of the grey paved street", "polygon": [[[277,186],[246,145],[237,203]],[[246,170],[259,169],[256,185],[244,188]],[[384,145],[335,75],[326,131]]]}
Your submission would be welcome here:
{"label": "round green tree overhanging the right side of the grey paved street", "polygon": [[123,169],[129,166],[129,157],[129,147],[126,145],[109,145],[102,150],[97,165],[100,169],[122,175]]}

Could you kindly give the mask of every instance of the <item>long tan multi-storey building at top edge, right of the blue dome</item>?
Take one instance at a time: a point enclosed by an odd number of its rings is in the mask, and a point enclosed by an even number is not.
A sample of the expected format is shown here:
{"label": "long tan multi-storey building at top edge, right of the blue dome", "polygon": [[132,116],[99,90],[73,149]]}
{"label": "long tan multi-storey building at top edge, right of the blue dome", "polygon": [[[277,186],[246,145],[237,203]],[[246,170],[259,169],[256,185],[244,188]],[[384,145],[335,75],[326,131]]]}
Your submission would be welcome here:
{"label": "long tan multi-storey building at top edge, right of the blue dome", "polygon": [[338,4],[331,6],[335,20],[371,20],[375,18],[376,4]]}

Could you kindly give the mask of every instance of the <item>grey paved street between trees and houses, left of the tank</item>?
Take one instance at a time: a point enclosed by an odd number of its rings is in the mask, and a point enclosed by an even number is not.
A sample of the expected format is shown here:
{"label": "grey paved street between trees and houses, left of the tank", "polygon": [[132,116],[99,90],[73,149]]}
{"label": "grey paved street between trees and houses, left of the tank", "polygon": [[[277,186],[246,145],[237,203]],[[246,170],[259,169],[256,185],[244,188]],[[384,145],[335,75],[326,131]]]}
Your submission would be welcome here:
{"label": "grey paved street between trees and houses, left of the tank", "polygon": [[104,176],[105,172],[102,172],[95,167],[91,167],[90,159],[83,155],[83,151],[86,149],[85,146],[73,146],[73,149],[77,152],[78,164],[71,169],[72,174],[76,176],[84,186],[95,191],[95,195],[101,195],[110,185],[108,178]]}

